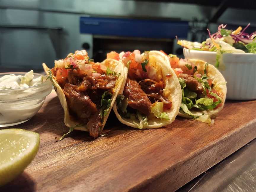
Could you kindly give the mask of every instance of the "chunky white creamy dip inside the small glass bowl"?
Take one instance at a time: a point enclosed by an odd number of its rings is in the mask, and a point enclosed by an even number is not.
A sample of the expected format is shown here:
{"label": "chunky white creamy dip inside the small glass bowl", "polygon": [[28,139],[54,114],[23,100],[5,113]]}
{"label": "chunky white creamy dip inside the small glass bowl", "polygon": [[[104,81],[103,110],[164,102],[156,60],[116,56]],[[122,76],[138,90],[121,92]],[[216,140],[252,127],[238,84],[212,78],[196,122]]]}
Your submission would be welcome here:
{"label": "chunky white creamy dip inside the small glass bowl", "polygon": [[38,85],[43,83],[43,77],[40,76],[36,79],[34,78],[34,71],[30,70],[24,76],[22,75],[5,75],[0,78],[0,90],[7,90],[7,89],[19,89],[23,87],[31,87],[33,85]]}

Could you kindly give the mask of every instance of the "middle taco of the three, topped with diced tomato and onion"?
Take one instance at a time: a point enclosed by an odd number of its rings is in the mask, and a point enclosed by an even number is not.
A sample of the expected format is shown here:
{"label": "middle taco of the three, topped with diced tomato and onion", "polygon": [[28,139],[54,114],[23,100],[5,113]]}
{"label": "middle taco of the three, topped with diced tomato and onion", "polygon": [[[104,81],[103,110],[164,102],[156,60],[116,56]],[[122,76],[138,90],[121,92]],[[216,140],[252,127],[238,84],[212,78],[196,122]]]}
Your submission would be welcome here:
{"label": "middle taco of the three, topped with diced tomato and onion", "polygon": [[159,51],[141,55],[135,50],[120,54],[111,52],[107,57],[121,60],[128,68],[126,83],[113,105],[121,123],[151,129],[175,120],[181,103],[181,87],[167,56]]}

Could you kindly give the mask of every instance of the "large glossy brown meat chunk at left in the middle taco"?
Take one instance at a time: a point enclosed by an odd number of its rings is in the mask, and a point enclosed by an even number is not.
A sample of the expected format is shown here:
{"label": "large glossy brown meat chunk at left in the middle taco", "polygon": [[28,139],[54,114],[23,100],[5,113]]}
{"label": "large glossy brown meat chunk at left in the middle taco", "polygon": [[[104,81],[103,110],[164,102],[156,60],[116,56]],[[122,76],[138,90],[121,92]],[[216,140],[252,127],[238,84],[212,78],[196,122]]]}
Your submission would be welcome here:
{"label": "large glossy brown meat chunk at left in the middle taco", "polygon": [[151,101],[148,99],[148,96],[140,88],[140,85],[137,81],[129,79],[124,87],[124,97],[128,98],[128,106],[133,109],[140,111],[141,113],[148,116],[151,112]]}

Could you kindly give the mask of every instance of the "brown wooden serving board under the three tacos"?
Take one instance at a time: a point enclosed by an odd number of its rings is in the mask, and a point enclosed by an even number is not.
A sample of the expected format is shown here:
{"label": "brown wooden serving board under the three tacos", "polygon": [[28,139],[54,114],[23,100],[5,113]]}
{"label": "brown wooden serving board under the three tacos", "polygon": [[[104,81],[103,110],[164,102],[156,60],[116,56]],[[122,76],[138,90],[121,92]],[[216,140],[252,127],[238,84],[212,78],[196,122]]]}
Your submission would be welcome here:
{"label": "brown wooden serving board under the three tacos", "polygon": [[[177,119],[139,130],[111,113],[96,140],[68,131],[52,92],[31,120],[12,128],[40,134],[40,148],[22,175],[0,191],[175,191],[256,137],[256,100],[227,101],[215,124]],[[9,128],[9,127],[8,127]]]}

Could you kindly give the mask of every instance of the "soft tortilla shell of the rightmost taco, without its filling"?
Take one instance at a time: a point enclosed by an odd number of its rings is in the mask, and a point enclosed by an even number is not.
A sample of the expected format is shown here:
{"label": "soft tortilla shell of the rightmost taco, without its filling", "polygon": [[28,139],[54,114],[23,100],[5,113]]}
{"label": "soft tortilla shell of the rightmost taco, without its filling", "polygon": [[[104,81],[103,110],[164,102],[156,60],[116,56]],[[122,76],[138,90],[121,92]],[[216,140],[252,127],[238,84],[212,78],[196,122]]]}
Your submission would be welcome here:
{"label": "soft tortilla shell of the rightmost taco, without its filling", "polygon": [[[195,66],[197,66],[197,70],[199,72],[201,71],[203,73],[205,64],[207,62],[202,61],[202,60],[197,60],[197,59],[189,59],[189,61],[191,63],[193,63]],[[207,71],[207,76],[210,79],[212,79],[212,84],[214,85],[213,89],[215,89],[218,93],[223,95],[223,98],[222,98],[223,105],[221,105],[217,109],[200,111],[200,113],[209,115],[210,118],[215,118],[217,116],[217,114],[219,113],[219,111],[221,111],[223,109],[226,95],[227,95],[227,86],[226,86],[226,81],[225,81],[223,75],[213,65],[208,64],[206,71]],[[190,111],[193,114],[199,113],[198,111],[194,111],[194,110],[190,110]],[[187,118],[191,117],[188,114],[184,114],[184,113],[180,113],[180,112],[179,112],[179,116],[187,117]]]}

